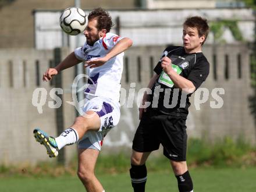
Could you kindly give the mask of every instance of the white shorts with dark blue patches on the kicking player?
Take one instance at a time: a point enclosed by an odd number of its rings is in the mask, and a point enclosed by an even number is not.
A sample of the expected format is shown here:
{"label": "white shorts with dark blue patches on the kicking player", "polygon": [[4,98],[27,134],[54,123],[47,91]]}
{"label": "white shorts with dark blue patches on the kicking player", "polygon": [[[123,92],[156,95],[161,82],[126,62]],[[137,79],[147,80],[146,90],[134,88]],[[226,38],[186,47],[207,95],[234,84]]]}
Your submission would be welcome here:
{"label": "white shorts with dark blue patches on the kicking player", "polygon": [[87,98],[83,111],[96,112],[101,120],[101,126],[98,131],[87,131],[79,141],[78,148],[93,148],[100,151],[106,133],[108,133],[112,127],[118,125],[120,119],[120,104],[119,102],[105,97]]}

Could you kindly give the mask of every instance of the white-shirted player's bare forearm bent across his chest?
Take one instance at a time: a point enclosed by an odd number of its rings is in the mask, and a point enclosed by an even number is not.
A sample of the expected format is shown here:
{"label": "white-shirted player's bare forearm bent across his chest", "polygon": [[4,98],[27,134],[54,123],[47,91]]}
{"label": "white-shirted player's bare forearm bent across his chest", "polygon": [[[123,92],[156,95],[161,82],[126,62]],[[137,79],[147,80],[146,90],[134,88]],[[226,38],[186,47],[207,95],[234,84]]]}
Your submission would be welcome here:
{"label": "white-shirted player's bare forearm bent across his chest", "polygon": [[133,41],[131,41],[130,38],[125,37],[120,40],[104,57],[98,59],[91,59],[90,61],[86,62],[86,65],[84,65],[84,67],[90,66],[90,68],[94,68],[104,65],[105,62],[109,61],[109,59],[113,58],[114,56],[124,52],[126,49],[131,47],[132,44]]}

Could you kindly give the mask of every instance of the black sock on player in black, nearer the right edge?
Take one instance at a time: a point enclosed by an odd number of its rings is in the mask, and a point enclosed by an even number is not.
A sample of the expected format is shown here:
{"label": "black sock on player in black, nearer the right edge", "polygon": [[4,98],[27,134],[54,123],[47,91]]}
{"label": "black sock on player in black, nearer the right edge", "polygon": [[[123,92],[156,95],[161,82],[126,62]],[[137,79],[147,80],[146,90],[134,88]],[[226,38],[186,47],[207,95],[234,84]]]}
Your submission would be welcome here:
{"label": "black sock on player in black, nearer the right edge", "polygon": [[193,182],[189,175],[189,170],[183,173],[183,175],[176,176],[178,181],[179,192],[193,191]]}

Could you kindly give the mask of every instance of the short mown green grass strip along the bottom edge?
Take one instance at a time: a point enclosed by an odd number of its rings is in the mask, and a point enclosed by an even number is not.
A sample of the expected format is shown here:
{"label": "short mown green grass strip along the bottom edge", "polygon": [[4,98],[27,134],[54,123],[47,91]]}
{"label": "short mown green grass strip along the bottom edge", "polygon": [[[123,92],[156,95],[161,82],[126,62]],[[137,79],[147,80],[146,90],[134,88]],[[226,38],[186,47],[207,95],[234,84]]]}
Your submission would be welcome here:
{"label": "short mown green grass strip along the bottom edge", "polygon": [[[191,169],[194,191],[207,192],[246,192],[256,191],[256,168],[197,168]],[[105,191],[132,191],[129,173],[116,175],[99,175]],[[85,191],[76,176],[60,177],[0,177],[1,192],[53,191],[70,192]],[[170,171],[148,173],[147,192],[178,191],[176,178]]]}

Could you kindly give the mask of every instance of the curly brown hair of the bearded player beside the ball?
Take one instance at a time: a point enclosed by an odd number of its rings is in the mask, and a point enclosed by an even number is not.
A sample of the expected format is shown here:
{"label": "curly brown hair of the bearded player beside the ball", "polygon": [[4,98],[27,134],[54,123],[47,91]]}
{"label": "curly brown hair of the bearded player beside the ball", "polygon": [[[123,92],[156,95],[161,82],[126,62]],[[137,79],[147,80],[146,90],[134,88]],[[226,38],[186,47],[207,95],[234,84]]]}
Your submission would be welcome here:
{"label": "curly brown hair of the bearded player beside the ball", "polygon": [[113,26],[112,18],[105,9],[97,8],[92,10],[88,15],[88,20],[92,19],[97,19],[97,29],[106,29],[106,33],[108,33]]}

